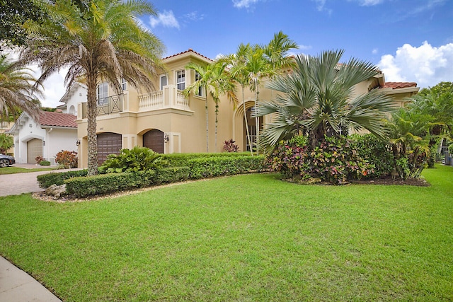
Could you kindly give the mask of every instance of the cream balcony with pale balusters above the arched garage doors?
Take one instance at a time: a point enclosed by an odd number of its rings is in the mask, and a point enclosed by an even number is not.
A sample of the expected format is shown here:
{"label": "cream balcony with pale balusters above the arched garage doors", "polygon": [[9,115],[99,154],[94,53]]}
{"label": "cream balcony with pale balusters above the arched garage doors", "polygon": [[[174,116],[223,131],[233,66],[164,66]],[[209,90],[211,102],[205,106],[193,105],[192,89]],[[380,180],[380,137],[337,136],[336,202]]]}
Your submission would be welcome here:
{"label": "cream balcony with pale balusters above the arched garage doors", "polygon": [[163,90],[154,93],[139,95],[138,99],[139,112],[167,108],[190,111],[189,100],[176,89],[175,85],[164,86]]}

